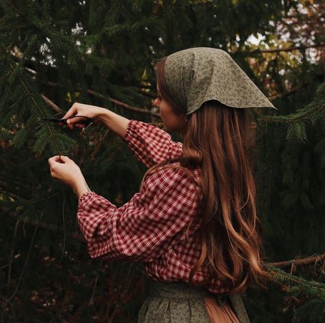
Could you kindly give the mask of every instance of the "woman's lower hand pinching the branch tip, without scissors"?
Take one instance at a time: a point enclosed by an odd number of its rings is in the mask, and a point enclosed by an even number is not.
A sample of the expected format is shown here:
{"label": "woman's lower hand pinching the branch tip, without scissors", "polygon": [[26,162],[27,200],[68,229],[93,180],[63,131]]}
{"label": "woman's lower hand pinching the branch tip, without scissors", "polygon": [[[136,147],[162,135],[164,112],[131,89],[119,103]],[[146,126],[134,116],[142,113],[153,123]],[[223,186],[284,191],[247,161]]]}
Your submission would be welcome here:
{"label": "woman's lower hand pinching the branch tip, without scissors", "polygon": [[90,191],[79,166],[72,159],[67,156],[53,156],[48,161],[51,177],[71,186],[78,197]]}

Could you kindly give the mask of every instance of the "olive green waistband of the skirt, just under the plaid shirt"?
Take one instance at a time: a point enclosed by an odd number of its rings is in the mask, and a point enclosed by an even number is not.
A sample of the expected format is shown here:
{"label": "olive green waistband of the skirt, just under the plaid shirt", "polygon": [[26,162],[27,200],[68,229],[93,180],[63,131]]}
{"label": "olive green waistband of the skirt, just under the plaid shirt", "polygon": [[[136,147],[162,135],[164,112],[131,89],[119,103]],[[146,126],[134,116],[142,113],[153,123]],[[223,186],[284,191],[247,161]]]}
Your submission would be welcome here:
{"label": "olive green waistband of the skirt, just under the plaid shirt", "polygon": [[226,294],[213,294],[203,286],[193,286],[185,282],[166,282],[149,280],[148,296],[169,299],[193,299],[213,297],[219,306],[228,300]]}

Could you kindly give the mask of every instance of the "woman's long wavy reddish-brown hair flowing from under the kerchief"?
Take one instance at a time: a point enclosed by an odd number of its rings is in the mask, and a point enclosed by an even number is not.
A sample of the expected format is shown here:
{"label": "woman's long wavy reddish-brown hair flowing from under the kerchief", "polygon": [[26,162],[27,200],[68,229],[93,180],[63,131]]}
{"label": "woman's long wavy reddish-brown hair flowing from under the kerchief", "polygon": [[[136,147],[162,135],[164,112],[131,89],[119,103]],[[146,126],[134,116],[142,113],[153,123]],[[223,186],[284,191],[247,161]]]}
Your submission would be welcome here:
{"label": "woman's long wavy reddish-brown hair flowing from under the kerchief", "polygon": [[[160,92],[173,111],[185,117],[186,107],[177,105],[167,86],[165,60],[156,64]],[[207,266],[209,276],[200,285],[217,279],[230,292],[242,293],[253,281],[261,285],[260,279],[267,276],[261,261],[261,223],[256,215],[256,186],[250,163],[254,139],[248,109],[208,101],[190,116],[184,133],[184,157],[177,159],[180,166],[174,165],[189,174],[188,167],[199,165],[201,169],[198,216],[202,217],[202,250],[189,283],[193,283],[197,270]],[[149,168],[145,177],[163,164],[167,162]]]}

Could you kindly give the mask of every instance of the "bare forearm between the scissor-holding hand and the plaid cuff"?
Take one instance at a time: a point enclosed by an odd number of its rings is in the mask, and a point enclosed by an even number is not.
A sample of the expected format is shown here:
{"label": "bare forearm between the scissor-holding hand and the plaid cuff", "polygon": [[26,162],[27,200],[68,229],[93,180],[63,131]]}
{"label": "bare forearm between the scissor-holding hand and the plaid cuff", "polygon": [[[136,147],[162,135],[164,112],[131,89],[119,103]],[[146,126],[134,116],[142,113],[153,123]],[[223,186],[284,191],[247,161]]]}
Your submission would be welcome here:
{"label": "bare forearm between the scissor-holding hand and the plaid cuff", "polygon": [[97,114],[97,118],[101,123],[106,125],[110,130],[117,133],[117,135],[124,137],[126,133],[126,129],[128,128],[129,119],[120,116],[119,114],[115,114],[114,112],[101,107],[99,109],[99,113]]}

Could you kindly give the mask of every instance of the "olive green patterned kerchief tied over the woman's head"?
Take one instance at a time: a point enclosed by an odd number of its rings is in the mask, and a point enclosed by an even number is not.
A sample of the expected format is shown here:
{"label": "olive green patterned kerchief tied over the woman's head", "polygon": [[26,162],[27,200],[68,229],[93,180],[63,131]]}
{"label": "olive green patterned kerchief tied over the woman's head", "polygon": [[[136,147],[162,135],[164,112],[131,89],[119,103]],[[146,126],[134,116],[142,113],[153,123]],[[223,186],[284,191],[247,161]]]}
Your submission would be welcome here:
{"label": "olive green patterned kerchief tied over the woman's head", "polygon": [[196,47],[178,51],[165,62],[167,86],[186,114],[209,100],[229,107],[274,107],[222,49]]}

